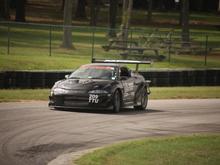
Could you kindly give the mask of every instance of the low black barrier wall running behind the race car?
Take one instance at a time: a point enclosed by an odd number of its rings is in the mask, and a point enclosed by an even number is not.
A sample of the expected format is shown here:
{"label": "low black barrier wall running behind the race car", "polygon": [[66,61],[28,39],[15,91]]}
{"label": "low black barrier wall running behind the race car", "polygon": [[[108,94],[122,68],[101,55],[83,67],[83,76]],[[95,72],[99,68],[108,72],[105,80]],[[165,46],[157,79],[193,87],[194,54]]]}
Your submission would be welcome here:
{"label": "low black barrier wall running behind the race car", "polygon": [[[0,88],[51,88],[71,71],[2,71]],[[219,86],[220,69],[140,72],[151,86]]]}

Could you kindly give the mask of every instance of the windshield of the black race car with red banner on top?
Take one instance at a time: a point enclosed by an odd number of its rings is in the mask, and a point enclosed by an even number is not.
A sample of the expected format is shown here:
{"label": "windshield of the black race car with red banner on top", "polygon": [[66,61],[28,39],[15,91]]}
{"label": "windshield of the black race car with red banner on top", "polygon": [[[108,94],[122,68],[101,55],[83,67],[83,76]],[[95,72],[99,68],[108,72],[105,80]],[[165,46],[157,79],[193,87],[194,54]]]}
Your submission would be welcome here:
{"label": "windshield of the black race car with red banner on top", "polygon": [[73,72],[69,78],[115,80],[116,71],[112,66],[84,65]]}

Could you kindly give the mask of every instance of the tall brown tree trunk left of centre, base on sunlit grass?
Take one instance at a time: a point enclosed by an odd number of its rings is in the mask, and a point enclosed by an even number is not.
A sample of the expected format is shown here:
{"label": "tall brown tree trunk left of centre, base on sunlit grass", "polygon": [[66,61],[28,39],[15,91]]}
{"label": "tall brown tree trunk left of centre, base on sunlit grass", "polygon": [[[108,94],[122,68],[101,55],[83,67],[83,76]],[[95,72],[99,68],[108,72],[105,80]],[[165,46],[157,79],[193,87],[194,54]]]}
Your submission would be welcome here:
{"label": "tall brown tree trunk left of centre, base on sunlit grass", "polygon": [[73,9],[73,0],[65,0],[64,4],[64,28],[63,28],[63,48],[71,49],[72,45],[72,9]]}

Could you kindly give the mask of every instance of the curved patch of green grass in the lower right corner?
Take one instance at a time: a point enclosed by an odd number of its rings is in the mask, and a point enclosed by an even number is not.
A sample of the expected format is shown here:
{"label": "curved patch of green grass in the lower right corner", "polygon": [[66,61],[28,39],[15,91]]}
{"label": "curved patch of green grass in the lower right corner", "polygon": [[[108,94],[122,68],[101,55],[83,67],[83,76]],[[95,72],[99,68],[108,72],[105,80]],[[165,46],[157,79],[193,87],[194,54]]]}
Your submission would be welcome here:
{"label": "curved patch of green grass in the lower right corner", "polygon": [[77,165],[218,165],[220,135],[146,138],[96,150]]}

